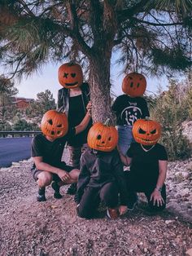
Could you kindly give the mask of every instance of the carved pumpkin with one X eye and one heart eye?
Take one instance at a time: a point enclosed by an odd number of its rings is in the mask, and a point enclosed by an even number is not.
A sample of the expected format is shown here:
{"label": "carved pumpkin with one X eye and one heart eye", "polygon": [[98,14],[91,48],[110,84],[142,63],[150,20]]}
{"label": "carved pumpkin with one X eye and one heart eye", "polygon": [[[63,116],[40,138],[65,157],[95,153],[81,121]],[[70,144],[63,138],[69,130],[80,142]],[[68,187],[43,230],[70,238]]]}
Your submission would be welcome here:
{"label": "carved pumpkin with one X eye and one heart eye", "polygon": [[76,88],[83,82],[81,66],[74,63],[65,63],[59,67],[59,83],[65,88]]}

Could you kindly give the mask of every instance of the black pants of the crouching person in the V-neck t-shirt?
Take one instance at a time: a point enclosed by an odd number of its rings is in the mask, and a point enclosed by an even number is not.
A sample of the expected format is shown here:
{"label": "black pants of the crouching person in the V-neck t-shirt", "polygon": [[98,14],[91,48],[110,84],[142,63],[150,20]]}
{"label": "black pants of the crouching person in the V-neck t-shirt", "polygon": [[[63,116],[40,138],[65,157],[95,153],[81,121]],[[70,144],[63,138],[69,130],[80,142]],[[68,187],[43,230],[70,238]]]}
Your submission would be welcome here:
{"label": "black pants of the crouching person in the V-neck t-shirt", "polygon": [[[136,179],[131,179],[131,177],[129,176],[129,172],[125,174],[126,177],[126,182],[127,182],[127,188],[128,188],[128,201],[136,201],[137,200],[137,192],[143,192],[146,195],[147,201],[148,201],[148,205],[151,211],[160,211],[160,210],[164,210],[165,206],[166,206],[166,186],[164,184],[164,186],[162,187],[162,191],[161,191],[161,196],[164,199],[164,204],[163,205],[157,205],[157,203],[155,203],[154,205],[154,201],[150,201],[151,198],[151,193],[154,191],[155,187],[156,187],[156,183],[157,180],[154,180],[153,182],[151,181],[150,183],[148,183],[147,180],[142,179],[142,182],[140,180],[139,185],[138,183],[135,181]],[[139,177],[137,178],[139,179]],[[148,186],[147,186],[148,184]]]}

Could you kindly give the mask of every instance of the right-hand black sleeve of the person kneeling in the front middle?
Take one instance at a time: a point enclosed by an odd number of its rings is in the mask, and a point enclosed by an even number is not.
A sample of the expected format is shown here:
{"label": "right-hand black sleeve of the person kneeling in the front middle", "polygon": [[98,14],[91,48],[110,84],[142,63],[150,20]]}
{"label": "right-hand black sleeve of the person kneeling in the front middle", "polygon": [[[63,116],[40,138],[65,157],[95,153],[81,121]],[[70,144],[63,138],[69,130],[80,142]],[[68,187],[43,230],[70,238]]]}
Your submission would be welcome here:
{"label": "right-hand black sleeve of the person kneeling in the front middle", "polygon": [[116,176],[116,181],[120,192],[120,205],[127,205],[127,186],[124,177],[123,164],[120,161],[120,155],[118,152],[116,152],[116,154],[113,157],[112,166],[114,168],[114,174]]}

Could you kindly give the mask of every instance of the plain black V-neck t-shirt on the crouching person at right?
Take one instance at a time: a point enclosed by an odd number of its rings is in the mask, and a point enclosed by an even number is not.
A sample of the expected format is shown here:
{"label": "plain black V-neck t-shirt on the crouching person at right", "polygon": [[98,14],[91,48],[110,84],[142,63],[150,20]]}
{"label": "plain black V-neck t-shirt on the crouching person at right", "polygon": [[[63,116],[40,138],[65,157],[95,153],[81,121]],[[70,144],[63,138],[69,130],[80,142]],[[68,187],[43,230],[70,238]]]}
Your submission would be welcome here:
{"label": "plain black V-neck t-shirt on the crouching person at right", "polygon": [[159,160],[168,160],[164,146],[159,143],[148,152],[142,149],[140,143],[131,143],[127,156],[132,158],[129,179],[139,188],[156,183],[159,177]]}

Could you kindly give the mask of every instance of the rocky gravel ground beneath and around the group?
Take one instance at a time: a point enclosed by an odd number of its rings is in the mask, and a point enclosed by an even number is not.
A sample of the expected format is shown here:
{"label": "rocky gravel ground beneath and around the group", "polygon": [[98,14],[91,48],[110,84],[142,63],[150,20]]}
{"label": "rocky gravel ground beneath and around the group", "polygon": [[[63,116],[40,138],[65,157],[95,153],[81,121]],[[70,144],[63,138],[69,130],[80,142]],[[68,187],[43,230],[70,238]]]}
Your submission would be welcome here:
{"label": "rocky gravel ground beneath and around the group", "polygon": [[168,207],[159,215],[137,208],[124,217],[85,220],[73,196],[36,201],[31,160],[0,169],[0,255],[192,255],[192,159],[168,166]]}

